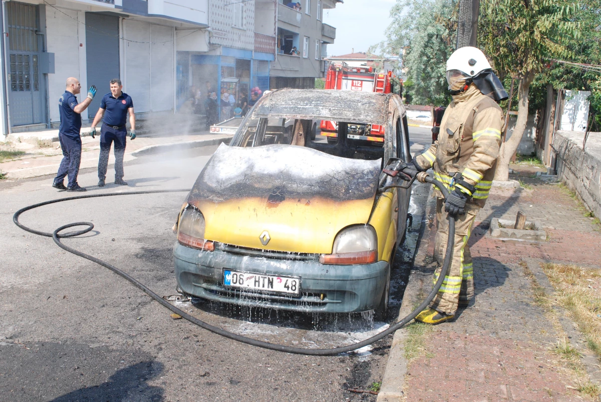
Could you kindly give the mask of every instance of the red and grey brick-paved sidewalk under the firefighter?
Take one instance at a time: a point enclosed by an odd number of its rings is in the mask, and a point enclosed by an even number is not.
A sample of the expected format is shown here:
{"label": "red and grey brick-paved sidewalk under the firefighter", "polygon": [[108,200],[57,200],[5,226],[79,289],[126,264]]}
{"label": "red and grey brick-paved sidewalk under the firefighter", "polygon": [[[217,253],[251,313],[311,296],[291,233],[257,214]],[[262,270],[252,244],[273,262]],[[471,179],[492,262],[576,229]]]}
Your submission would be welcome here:
{"label": "red and grey brick-paved sidewalk under the firefighter", "polygon": [[[424,337],[423,355],[415,361],[391,358],[379,401],[590,400],[576,391],[572,372],[550,351],[562,335],[558,331],[573,326],[555,329],[534,302],[532,274],[548,284],[542,261],[599,268],[601,227],[584,216],[562,187],[528,177],[525,172],[514,178],[531,189],[493,189],[476,219],[470,240],[475,303],[460,310],[453,322],[433,326]],[[515,219],[518,210],[547,227],[548,242],[498,240],[486,234],[491,218]],[[402,316],[432,288],[434,209],[427,218]],[[407,329],[399,332],[392,348],[400,350],[391,350],[391,356],[402,360],[410,340]],[[398,371],[396,376],[388,373],[389,367]]]}

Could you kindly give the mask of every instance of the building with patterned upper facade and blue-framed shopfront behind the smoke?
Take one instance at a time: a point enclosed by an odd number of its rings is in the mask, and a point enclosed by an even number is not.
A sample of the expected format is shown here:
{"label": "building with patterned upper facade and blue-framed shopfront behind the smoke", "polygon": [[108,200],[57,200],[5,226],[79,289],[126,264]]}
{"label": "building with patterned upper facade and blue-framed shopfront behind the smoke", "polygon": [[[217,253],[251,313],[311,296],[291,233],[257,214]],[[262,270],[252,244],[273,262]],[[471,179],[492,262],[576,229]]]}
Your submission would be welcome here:
{"label": "building with patterned upper facade and blue-framed shopfront behind the smoke", "polygon": [[[211,0],[206,47],[192,49],[197,41],[178,46],[178,103],[198,92],[202,99],[209,90],[227,91],[243,102],[252,88],[269,89],[277,5],[276,0]],[[219,113],[221,118],[221,108]]]}

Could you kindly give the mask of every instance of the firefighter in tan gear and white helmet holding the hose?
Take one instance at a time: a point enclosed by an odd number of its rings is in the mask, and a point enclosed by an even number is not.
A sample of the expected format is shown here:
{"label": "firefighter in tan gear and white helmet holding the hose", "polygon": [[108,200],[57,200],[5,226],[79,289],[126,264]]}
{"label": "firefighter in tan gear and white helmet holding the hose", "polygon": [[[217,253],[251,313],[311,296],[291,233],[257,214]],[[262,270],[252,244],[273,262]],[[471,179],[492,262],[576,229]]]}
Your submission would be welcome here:
{"label": "firefighter in tan gear and white helmet holding the hose", "polygon": [[435,283],[447,251],[447,219],[449,215],[456,217],[455,245],[447,276],[429,308],[415,318],[429,324],[451,320],[457,308],[465,308],[474,297],[468,240],[495,176],[505,125],[497,102],[508,98],[486,56],[475,47],[453,52],[447,61],[447,82],[453,100],[442,117],[438,141],[412,160],[418,171],[432,167],[435,178],[449,190],[446,201],[438,189],[434,190],[438,198]]}

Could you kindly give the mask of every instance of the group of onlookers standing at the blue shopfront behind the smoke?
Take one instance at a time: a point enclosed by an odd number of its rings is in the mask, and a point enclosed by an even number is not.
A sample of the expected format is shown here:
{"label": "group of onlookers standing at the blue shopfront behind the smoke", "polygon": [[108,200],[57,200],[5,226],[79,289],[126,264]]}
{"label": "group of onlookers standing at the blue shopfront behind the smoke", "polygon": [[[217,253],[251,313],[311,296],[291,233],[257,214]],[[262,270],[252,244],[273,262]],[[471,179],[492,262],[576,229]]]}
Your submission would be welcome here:
{"label": "group of onlookers standing at the blue shopfront behind the smoke", "polygon": [[219,108],[221,108],[221,121],[232,117],[243,117],[257,103],[259,96],[257,92],[253,91],[251,99],[240,94],[236,100],[235,94],[229,93],[227,88],[222,88],[221,97],[218,97],[209,81],[206,82],[206,85],[207,90],[204,94],[203,91],[192,87],[192,97],[194,98],[194,113],[202,114],[204,111],[207,115],[207,130],[213,124],[219,123]]}

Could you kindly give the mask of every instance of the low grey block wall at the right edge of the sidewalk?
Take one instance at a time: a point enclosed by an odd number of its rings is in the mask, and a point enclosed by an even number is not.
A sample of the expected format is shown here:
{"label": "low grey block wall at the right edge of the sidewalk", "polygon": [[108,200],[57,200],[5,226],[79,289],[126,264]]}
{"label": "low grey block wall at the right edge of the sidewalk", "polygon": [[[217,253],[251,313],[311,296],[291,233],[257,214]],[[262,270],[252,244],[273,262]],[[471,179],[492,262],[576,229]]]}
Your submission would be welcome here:
{"label": "low grey block wall at the right edge of the sidewalk", "polygon": [[589,133],[584,151],[583,140],[583,132],[555,133],[557,174],[589,211],[601,217],[601,133]]}

